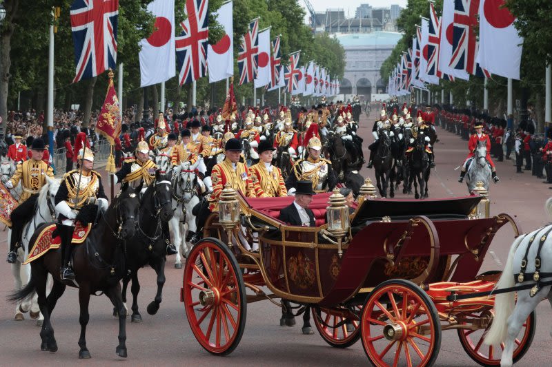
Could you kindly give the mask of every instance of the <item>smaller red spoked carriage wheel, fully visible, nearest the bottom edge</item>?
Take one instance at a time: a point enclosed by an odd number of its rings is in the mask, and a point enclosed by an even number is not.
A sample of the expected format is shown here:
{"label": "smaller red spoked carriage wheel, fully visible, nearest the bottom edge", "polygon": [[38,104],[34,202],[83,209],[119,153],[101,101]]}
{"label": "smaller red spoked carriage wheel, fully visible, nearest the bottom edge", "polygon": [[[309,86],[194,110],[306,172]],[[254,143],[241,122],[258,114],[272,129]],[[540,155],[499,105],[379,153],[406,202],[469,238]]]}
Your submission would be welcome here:
{"label": "smaller red spoked carriage wheel, fully visible, nearest the bottom edge", "polygon": [[431,366],[441,346],[435,305],[408,280],[388,280],[368,295],[362,312],[362,346],[382,366]]}

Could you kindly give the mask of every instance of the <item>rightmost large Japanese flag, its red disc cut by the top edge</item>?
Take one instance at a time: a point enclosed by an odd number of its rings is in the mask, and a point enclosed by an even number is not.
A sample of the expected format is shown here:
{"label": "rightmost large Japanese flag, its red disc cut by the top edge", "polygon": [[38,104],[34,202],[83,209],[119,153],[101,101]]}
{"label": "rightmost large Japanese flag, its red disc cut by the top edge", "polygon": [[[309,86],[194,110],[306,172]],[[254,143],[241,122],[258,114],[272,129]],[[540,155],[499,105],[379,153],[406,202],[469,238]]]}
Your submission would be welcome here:
{"label": "rightmost large Japanese flag, its red disc cut by the top edge", "polygon": [[517,33],[504,0],[479,4],[479,52],[476,61],[491,74],[519,79],[523,39]]}

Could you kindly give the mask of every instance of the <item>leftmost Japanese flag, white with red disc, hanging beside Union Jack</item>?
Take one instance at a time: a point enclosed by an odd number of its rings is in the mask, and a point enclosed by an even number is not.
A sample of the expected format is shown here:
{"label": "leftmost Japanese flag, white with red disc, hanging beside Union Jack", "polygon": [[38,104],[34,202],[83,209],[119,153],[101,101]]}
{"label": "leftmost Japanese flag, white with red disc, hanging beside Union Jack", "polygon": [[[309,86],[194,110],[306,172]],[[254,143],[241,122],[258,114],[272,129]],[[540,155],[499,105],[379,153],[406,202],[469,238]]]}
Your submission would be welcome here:
{"label": "leftmost Japanese flag, white with red disc, hanging beside Union Jack", "polygon": [[153,32],[140,41],[140,86],[164,82],[176,74],[175,0],[155,0],[148,5],[155,16]]}

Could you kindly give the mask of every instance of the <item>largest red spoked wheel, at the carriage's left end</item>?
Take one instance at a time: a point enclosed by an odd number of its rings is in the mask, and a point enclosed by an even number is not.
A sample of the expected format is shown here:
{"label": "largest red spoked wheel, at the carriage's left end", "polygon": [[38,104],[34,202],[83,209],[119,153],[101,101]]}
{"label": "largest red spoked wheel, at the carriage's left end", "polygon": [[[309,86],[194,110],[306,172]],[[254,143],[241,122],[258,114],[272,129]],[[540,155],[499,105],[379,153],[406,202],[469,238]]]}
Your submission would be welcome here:
{"label": "largest red spoked wheel, at the carriage's left end", "polygon": [[208,352],[227,355],[246,324],[246,290],[234,255],[216,238],[197,242],[184,271],[184,304],[195,338]]}

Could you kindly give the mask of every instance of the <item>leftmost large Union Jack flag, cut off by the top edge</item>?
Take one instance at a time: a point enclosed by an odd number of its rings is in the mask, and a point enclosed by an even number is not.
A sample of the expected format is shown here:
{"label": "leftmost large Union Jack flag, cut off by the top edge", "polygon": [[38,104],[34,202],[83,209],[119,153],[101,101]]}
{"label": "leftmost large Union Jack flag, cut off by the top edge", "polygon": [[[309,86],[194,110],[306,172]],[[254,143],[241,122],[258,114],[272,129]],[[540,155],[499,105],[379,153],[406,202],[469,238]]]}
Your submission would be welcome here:
{"label": "leftmost large Union Jack flag, cut off by the top edge", "polygon": [[73,83],[115,69],[119,0],[75,0],[69,13],[75,44]]}

